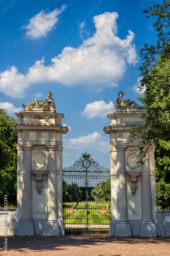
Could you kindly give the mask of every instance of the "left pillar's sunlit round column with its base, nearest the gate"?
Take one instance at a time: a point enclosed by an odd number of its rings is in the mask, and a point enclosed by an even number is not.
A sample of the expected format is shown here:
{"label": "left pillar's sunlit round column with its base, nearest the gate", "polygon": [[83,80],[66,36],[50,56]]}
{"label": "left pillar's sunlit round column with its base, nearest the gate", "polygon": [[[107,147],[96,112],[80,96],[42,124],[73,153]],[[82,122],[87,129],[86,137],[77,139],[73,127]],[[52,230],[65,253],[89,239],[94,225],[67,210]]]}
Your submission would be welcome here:
{"label": "left pillar's sunlit round column with its base, nearest the gate", "polygon": [[57,220],[57,165],[56,150],[57,145],[47,145],[48,163],[47,169],[47,218],[43,228],[43,236],[59,235],[59,225]]}

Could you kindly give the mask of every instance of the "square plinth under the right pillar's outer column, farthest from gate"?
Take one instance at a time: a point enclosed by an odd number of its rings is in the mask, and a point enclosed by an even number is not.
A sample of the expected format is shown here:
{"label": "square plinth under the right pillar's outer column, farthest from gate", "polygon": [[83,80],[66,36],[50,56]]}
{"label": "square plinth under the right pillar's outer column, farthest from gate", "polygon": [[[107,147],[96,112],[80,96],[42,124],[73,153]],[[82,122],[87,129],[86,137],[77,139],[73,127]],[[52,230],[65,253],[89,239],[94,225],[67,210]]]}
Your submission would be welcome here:
{"label": "square plinth under the right pillar's outer column, farthest from gate", "polygon": [[156,226],[153,221],[141,222],[140,237],[157,237]]}

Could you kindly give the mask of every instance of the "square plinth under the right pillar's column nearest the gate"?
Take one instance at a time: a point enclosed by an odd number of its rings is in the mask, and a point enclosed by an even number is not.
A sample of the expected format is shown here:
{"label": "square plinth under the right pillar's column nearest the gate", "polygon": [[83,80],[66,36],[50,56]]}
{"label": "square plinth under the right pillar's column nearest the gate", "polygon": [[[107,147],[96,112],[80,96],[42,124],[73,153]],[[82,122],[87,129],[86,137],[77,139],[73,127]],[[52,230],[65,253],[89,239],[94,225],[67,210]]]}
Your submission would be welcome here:
{"label": "square plinth under the right pillar's column nearest the gate", "polygon": [[115,226],[115,237],[131,237],[130,224],[128,221],[117,221]]}

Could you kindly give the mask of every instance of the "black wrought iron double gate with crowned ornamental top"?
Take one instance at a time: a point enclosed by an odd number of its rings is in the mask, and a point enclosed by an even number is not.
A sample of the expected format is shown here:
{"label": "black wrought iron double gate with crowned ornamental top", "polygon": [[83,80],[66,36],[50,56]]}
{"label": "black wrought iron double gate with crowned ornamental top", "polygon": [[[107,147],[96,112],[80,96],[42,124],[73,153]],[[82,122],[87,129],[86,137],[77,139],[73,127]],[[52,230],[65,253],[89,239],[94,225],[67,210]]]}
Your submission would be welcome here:
{"label": "black wrought iron double gate with crowned ornamental top", "polygon": [[110,170],[87,152],[63,169],[63,219],[66,234],[109,234]]}

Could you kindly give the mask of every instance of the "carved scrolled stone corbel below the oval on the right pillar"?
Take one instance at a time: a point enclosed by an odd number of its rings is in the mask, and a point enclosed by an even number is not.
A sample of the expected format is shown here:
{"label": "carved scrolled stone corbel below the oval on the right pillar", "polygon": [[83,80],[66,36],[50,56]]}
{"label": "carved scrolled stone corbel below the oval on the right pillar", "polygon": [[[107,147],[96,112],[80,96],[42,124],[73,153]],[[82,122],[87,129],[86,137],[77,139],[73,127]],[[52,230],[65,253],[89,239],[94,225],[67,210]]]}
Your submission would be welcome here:
{"label": "carved scrolled stone corbel below the oval on the right pillar", "polygon": [[142,173],[127,173],[125,172],[126,180],[130,183],[130,191],[135,196],[136,190],[138,189],[137,183],[140,181]]}

